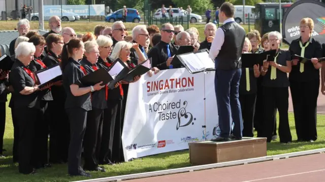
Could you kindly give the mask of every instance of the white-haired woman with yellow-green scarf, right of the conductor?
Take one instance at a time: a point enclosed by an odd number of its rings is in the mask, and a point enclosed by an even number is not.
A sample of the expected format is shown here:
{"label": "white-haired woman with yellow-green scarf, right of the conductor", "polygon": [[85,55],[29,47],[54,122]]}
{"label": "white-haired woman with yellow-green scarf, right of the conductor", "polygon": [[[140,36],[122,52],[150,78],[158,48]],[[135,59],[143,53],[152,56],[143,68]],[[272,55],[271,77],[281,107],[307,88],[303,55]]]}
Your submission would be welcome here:
{"label": "white-haired woman with yellow-green scarf, right of the conductor", "polygon": [[268,38],[271,49],[276,50],[276,55],[274,61],[264,60],[261,72],[264,76],[262,82],[264,119],[261,136],[266,137],[267,142],[271,142],[276,117],[274,110],[278,109],[280,143],[290,143],[292,141],[288,119],[288,86],[290,83],[287,73],[291,72],[291,57],[288,52],[280,49],[282,35],[279,32],[270,32]]}

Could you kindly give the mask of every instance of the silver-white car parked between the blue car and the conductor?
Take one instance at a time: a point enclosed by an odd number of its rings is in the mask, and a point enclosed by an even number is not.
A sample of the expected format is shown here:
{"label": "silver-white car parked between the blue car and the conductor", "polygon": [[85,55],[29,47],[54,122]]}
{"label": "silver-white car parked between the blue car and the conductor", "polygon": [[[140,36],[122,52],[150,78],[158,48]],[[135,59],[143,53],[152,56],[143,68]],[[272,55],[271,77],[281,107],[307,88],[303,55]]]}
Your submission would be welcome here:
{"label": "silver-white car parked between the blue car and the conductor", "polygon": [[[166,8],[167,10],[167,13],[166,13],[166,17],[169,18],[169,8]],[[173,10],[173,19],[175,17],[180,17],[181,16],[181,12],[179,11],[178,8],[172,8]],[[187,20],[187,11],[185,10],[182,10],[183,12],[183,21],[188,21]],[[160,18],[163,18],[163,15],[161,13],[161,8],[159,8],[155,13],[154,13],[154,18],[155,19],[160,19]],[[191,23],[197,23],[197,22],[202,22],[202,16],[201,15],[198,15],[198,14],[195,14],[195,13],[191,13],[191,17],[190,17],[190,21]]]}

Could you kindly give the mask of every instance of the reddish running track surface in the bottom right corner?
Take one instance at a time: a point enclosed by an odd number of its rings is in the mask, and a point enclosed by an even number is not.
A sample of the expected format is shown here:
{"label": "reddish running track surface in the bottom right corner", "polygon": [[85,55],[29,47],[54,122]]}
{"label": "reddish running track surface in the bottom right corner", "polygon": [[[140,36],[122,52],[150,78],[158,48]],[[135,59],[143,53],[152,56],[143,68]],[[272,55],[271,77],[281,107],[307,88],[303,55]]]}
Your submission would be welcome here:
{"label": "reddish running track surface in the bottom right corner", "polygon": [[325,153],[179,174],[126,180],[129,182],[312,182],[325,181]]}

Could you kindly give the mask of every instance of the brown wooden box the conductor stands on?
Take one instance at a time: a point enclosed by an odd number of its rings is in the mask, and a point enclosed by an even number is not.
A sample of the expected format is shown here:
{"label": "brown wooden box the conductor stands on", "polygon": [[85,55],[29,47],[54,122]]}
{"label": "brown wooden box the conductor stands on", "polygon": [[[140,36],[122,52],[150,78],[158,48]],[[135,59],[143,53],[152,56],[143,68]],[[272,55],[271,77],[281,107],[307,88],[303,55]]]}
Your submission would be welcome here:
{"label": "brown wooden box the conductor stands on", "polygon": [[267,155],[266,138],[243,138],[228,142],[191,142],[189,160],[192,165],[228,162]]}

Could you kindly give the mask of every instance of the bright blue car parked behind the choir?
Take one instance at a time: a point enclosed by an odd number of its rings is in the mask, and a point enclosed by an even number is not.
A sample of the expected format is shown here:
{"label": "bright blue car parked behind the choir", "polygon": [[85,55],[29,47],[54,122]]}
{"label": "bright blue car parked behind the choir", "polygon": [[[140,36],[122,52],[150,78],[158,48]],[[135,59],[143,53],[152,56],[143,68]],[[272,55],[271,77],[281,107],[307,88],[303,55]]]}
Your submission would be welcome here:
{"label": "bright blue car parked behind the choir", "polygon": [[[139,23],[141,18],[139,15],[139,12],[137,9],[133,9],[133,8],[126,8],[127,9],[127,16],[126,16],[126,22],[135,22],[135,23]],[[115,22],[115,21],[119,21],[119,20],[123,20],[122,19],[122,14],[123,14],[123,9],[117,10],[111,14],[106,15],[105,21],[106,22]]]}

